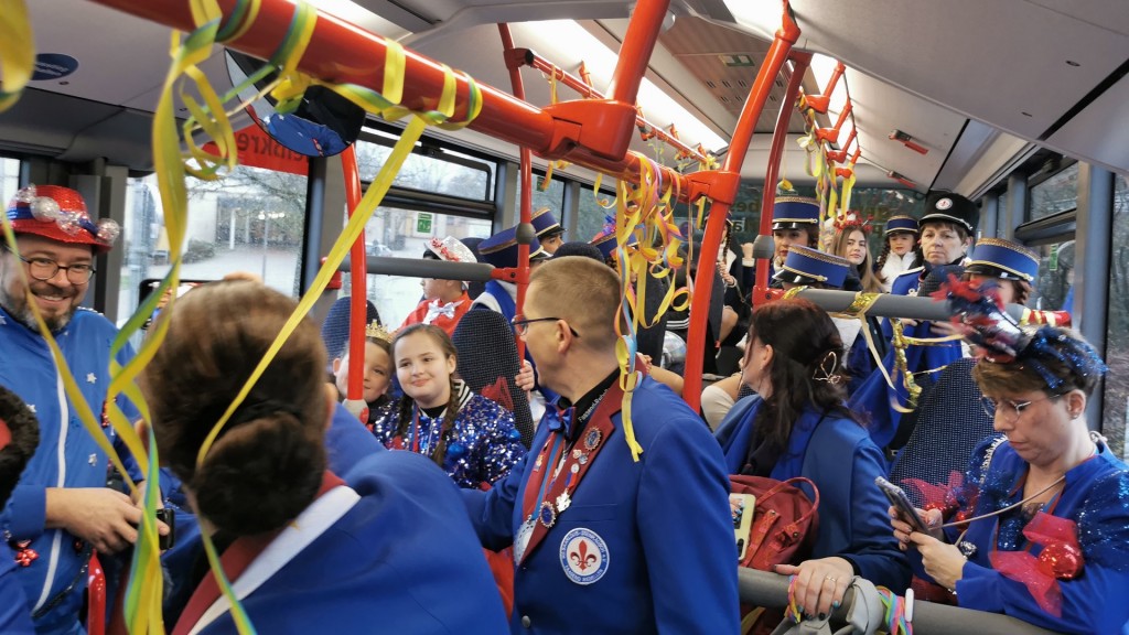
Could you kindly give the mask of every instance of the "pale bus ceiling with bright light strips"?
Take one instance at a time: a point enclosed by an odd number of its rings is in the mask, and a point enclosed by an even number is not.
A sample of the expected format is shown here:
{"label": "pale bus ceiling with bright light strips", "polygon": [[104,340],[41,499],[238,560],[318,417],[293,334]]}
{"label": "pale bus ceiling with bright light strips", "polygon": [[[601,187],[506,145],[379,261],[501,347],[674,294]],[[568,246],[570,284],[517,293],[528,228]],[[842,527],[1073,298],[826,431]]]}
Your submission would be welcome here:
{"label": "pale bus ceiling with bright light strips", "polygon": [[[78,67],[65,77],[34,81],[24,103],[0,115],[0,149],[64,160],[95,156],[135,169],[150,167],[149,118],[168,67],[166,28],[93,2],[29,2],[38,52],[62,53]],[[518,47],[534,50],[605,89],[629,18],[624,2],[495,0],[321,0],[314,2],[374,33],[401,40],[429,58],[506,89],[508,71],[496,23],[511,23]],[[797,47],[820,53],[804,81],[820,94],[834,60],[847,67],[826,115],[830,127],[849,90],[857,125],[860,185],[951,189],[975,194],[1007,164],[1038,146],[1114,171],[1129,167],[1129,12],[1123,0],[1068,5],[1035,0],[851,3],[793,0],[802,29]],[[651,56],[639,105],[660,127],[674,123],[690,146],[724,153],[768,41],[779,28],[777,2],[673,0],[671,19]],[[552,21],[546,21],[552,20]],[[91,37],[100,33],[129,37]],[[128,42],[128,45],[123,45]],[[583,44],[583,45],[581,45]],[[825,59],[823,56],[826,56]],[[217,63],[217,58],[218,63]],[[613,60],[609,62],[607,60]],[[220,55],[205,66],[225,88]],[[551,86],[526,69],[527,101],[544,106]],[[756,124],[742,176],[761,180],[780,78]],[[563,85],[561,101],[578,98]],[[84,99],[76,108],[73,99]],[[81,102],[79,102],[81,103]],[[71,113],[68,118],[60,112]],[[73,113],[84,113],[75,116]],[[892,139],[912,139],[926,153]],[[800,118],[789,133],[798,140]],[[466,146],[516,157],[516,149],[464,130],[443,133]],[[655,156],[636,136],[632,149]],[[840,148],[843,149],[843,148]],[[674,150],[662,150],[673,163]],[[782,175],[809,182],[806,153],[786,143]],[[583,173],[588,176],[587,173]]]}

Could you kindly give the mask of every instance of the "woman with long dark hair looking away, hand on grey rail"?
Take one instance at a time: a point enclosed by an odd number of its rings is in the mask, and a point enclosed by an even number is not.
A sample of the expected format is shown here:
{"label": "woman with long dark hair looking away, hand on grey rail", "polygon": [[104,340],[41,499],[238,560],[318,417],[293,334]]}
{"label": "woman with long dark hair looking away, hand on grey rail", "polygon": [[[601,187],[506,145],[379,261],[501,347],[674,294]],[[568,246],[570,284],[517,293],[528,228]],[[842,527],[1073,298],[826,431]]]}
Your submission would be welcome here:
{"label": "woman with long dark hair looking away, hand on grey rail", "polygon": [[839,606],[855,575],[890,589],[910,581],[874,485],[885,473],[882,452],[843,405],[842,362],[839,331],[819,306],[799,298],[758,306],[742,376],[756,394],[738,401],[716,433],[729,473],[803,476],[820,489],[811,559],[777,567],[796,575],[796,602],[816,617]]}

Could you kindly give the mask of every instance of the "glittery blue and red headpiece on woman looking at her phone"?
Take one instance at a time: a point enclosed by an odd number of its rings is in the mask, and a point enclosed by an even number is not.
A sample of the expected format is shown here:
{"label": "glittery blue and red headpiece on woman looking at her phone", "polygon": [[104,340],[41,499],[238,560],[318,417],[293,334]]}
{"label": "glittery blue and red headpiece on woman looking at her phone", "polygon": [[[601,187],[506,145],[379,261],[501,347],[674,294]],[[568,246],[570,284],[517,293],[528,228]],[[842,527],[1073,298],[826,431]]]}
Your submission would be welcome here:
{"label": "glittery blue and red headpiece on woman looking at her phone", "polygon": [[1052,392],[1066,392],[1067,377],[1052,372],[1048,364],[1058,363],[1078,379],[1101,376],[1109,371],[1094,347],[1070,331],[1049,325],[1021,327],[1004,311],[999,289],[992,280],[973,287],[951,276],[934,297],[948,301],[953,322],[964,339],[988,353],[987,360],[1029,367]]}

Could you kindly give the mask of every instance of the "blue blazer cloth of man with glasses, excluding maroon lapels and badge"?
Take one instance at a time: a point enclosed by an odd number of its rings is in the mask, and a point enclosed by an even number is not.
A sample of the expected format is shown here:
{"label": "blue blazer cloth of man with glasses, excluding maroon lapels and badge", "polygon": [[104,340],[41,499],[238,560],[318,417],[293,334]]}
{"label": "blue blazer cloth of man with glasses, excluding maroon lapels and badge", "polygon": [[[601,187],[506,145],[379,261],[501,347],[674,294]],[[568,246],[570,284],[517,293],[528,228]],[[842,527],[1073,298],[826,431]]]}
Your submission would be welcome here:
{"label": "blue blazer cloth of man with glasses, excluding maroon lapels and badge", "polygon": [[[631,459],[616,412],[571,506],[517,567],[514,633],[739,630],[729,481],[717,443],[684,401],[650,377],[634,391],[631,419],[644,447],[639,462]],[[487,548],[514,541],[524,520],[530,456],[549,435],[542,421],[530,454],[489,493],[462,490]],[[607,566],[595,580],[574,582],[564,547],[581,531],[605,546]]]}

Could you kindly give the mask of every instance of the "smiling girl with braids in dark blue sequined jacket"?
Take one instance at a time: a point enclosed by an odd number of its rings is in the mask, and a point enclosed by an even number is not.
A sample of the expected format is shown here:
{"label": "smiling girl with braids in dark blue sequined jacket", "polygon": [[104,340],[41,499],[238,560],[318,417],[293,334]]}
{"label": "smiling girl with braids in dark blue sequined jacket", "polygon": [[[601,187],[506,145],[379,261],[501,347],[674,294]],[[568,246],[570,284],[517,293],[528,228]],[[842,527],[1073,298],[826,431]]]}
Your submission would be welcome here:
{"label": "smiling girl with braids in dark blue sequined jacket", "polygon": [[457,351],[443,329],[412,324],[392,341],[404,395],[377,409],[373,434],[387,447],[430,456],[460,487],[478,489],[524,454],[514,415],[455,379]]}

